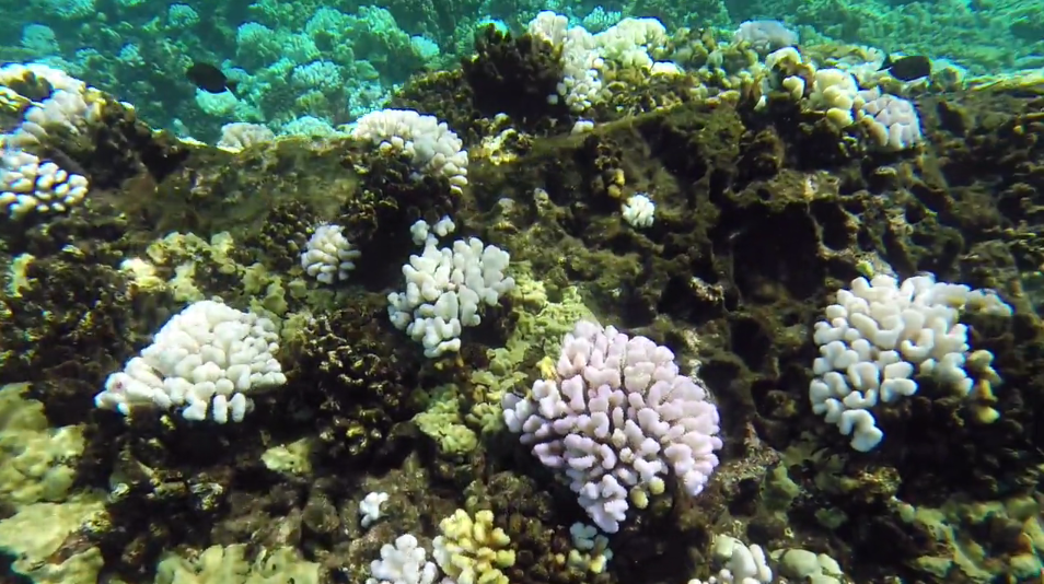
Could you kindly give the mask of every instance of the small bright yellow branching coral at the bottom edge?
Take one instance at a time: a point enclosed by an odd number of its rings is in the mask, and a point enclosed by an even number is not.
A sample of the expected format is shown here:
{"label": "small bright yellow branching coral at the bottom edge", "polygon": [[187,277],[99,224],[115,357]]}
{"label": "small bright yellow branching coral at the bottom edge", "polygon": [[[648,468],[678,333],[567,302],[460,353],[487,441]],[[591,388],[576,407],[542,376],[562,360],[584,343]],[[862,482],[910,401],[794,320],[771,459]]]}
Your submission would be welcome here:
{"label": "small bright yellow branching coral at the bottom edge", "polygon": [[463,509],[442,519],[442,535],[434,538],[434,558],[456,584],[508,584],[500,570],[514,565],[511,538],[494,527],[491,511],[479,511],[473,519]]}

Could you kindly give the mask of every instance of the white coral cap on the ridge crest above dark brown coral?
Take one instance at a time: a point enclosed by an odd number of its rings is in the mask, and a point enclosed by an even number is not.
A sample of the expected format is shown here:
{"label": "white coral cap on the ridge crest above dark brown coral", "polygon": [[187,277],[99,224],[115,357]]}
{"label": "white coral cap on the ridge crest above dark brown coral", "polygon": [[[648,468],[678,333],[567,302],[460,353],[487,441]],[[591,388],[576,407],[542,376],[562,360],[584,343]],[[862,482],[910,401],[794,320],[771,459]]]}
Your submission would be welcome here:
{"label": "white coral cap on the ridge crest above dark brown coral", "polygon": [[454,192],[467,184],[467,151],[444,121],[413,109],[371,112],[356,122],[352,138],[378,144],[382,151],[404,153],[420,174],[444,176]]}

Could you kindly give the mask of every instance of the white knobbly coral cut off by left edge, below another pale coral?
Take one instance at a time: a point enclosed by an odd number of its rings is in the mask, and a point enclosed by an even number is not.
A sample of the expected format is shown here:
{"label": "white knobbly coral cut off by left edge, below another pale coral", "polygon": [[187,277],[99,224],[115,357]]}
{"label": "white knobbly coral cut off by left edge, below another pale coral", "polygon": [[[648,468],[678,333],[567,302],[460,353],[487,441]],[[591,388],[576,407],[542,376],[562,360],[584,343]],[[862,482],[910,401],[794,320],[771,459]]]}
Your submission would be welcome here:
{"label": "white knobbly coral cut off by left edge, below another pale coral", "polygon": [[28,152],[12,150],[0,157],[0,207],[13,219],[32,212],[63,212],[80,203],[89,187],[86,177]]}

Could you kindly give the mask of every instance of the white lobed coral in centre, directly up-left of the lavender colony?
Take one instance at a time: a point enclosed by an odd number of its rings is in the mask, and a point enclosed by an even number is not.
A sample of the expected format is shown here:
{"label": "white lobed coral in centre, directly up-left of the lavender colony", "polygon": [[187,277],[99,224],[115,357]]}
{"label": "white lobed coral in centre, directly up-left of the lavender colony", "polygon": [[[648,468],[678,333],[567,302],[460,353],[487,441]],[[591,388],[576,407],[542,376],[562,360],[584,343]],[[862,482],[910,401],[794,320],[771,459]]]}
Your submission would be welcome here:
{"label": "white lobed coral in centre, directly up-left of the lavender colony", "polygon": [[[410,231],[415,236],[422,232],[416,224]],[[510,259],[477,237],[439,248],[429,234],[421,255],[403,266],[406,290],[387,296],[392,324],[424,343],[427,357],[459,351],[462,328],[480,324],[482,306],[496,305],[514,288],[514,279],[504,276]]]}

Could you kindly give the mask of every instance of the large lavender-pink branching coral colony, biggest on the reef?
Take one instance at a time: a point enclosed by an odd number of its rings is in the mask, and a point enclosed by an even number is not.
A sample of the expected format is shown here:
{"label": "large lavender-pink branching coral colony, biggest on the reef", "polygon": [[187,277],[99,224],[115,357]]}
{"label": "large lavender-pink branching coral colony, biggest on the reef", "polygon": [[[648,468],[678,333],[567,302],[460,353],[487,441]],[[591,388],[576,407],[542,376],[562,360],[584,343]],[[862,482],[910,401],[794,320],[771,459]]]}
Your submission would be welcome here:
{"label": "large lavender-pink branching coral colony, biggest on the reef", "polygon": [[557,469],[600,528],[619,530],[628,500],[642,509],[676,476],[697,495],[718,466],[718,409],[680,375],[674,353],[614,327],[578,323],[555,377],[522,399],[504,397],[504,422]]}

